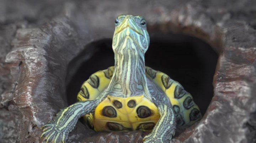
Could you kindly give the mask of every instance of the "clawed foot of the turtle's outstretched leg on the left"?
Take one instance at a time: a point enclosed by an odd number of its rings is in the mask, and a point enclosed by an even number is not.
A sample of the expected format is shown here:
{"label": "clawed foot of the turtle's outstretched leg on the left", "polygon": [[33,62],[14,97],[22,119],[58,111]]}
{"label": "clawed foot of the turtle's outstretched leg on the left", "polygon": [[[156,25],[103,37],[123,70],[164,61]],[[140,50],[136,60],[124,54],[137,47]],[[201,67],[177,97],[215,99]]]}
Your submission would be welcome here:
{"label": "clawed foot of the turtle's outstretched leg on the left", "polygon": [[43,141],[46,143],[64,143],[68,132],[60,131],[54,124],[46,124],[42,127],[43,133],[41,138],[44,138]]}

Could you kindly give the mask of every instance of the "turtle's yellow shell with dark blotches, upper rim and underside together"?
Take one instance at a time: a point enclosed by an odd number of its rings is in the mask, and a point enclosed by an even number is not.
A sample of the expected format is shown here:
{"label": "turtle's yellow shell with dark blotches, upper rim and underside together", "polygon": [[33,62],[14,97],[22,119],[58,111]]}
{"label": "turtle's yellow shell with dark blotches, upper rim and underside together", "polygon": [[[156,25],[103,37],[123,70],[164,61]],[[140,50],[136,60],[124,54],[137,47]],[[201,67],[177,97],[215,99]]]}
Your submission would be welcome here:
{"label": "turtle's yellow shell with dark blotches, upper rim and underside together", "polygon": [[[109,67],[92,74],[82,84],[78,101],[96,99],[110,84],[113,71],[114,67]],[[150,67],[145,67],[145,71],[146,78],[170,100],[176,113],[177,126],[191,125],[201,118],[193,97],[177,81]],[[143,95],[127,98],[107,96],[94,113],[84,116],[84,120],[95,131],[151,131],[159,118],[156,105]]]}

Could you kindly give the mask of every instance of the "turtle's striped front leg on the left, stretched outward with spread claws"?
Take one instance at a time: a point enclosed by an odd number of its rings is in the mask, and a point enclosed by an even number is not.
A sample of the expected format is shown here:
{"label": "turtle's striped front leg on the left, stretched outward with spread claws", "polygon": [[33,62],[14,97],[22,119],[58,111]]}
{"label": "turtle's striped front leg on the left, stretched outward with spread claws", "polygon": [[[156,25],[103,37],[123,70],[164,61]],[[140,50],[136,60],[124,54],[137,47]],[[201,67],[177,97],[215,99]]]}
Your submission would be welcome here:
{"label": "turtle's striped front leg on the left, stretched outward with spread claws", "polygon": [[100,99],[80,101],[59,111],[55,118],[44,125],[41,137],[46,142],[65,142],[68,133],[71,132],[78,119],[88,113],[91,113],[99,104]]}

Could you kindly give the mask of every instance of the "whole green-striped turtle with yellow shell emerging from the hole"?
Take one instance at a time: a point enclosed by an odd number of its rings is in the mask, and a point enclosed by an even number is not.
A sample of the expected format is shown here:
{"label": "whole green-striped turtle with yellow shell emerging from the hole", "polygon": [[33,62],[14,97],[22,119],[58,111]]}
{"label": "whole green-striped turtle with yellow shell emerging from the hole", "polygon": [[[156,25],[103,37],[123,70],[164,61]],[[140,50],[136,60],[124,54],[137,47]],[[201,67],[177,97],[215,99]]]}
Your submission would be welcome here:
{"label": "whole green-striped turtle with yellow shell emerging from the hole", "polygon": [[201,119],[199,107],[181,84],[145,66],[149,47],[145,18],[119,15],[114,23],[114,66],[97,71],[82,84],[78,102],[42,127],[44,141],[65,142],[81,117],[95,131],[150,132],[145,143],[169,142],[176,127]]}

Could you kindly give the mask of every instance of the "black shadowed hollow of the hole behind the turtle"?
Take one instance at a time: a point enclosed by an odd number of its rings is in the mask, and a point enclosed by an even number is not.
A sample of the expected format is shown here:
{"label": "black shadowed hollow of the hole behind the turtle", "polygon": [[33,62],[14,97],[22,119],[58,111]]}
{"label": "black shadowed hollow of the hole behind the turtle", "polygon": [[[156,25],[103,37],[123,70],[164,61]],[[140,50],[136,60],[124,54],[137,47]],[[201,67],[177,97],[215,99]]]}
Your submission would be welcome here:
{"label": "black shadowed hollow of the hole behind the turtle", "polygon": [[[69,64],[66,78],[69,105],[76,102],[82,83],[91,74],[114,65],[111,46],[112,39],[94,42],[87,45]],[[145,65],[180,82],[204,114],[213,97],[212,82],[217,58],[217,53],[198,38],[179,34],[151,34]]]}

